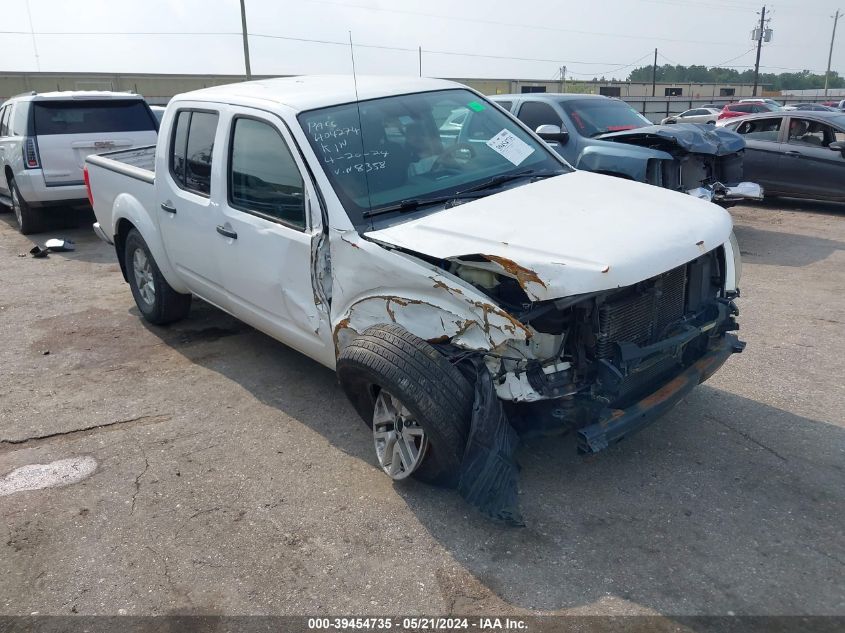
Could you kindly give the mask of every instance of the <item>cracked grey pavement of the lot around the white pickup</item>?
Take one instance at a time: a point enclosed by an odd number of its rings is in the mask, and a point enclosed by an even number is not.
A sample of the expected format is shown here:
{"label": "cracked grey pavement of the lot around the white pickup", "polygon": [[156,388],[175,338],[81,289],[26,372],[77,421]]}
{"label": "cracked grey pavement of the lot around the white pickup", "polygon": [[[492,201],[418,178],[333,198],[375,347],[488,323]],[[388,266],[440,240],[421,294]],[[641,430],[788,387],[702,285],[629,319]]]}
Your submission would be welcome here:
{"label": "cracked grey pavement of the lot around the white pickup", "polygon": [[1,215],[0,475],[96,470],[0,496],[0,612],[845,614],[845,207],[732,213],[745,353],[602,455],[528,442],[523,529],[392,484],[267,336],[145,325],[84,222],[39,260]]}

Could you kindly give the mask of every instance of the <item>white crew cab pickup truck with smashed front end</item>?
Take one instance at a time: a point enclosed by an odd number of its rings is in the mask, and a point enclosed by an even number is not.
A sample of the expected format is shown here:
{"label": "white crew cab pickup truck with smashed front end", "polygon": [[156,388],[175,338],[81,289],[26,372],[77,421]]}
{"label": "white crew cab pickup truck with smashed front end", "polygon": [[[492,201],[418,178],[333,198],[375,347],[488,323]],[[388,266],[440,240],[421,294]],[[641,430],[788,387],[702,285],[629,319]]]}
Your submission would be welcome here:
{"label": "white crew cab pickup truck with smashed front end", "polygon": [[144,318],[196,295],[336,369],[394,479],[455,483],[485,390],[595,452],[743,347],[725,210],[576,171],[452,82],[183,94],[86,179]]}

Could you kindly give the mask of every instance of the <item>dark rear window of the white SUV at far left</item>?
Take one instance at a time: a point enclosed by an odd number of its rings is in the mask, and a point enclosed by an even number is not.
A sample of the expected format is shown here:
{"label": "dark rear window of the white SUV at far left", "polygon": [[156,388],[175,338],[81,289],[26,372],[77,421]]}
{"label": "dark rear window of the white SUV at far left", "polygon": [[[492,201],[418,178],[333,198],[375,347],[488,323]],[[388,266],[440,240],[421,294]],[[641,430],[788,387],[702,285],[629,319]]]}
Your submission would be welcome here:
{"label": "dark rear window of the white SUV at far left", "polygon": [[42,101],[33,107],[35,133],[98,134],[155,131],[155,119],[143,101]]}

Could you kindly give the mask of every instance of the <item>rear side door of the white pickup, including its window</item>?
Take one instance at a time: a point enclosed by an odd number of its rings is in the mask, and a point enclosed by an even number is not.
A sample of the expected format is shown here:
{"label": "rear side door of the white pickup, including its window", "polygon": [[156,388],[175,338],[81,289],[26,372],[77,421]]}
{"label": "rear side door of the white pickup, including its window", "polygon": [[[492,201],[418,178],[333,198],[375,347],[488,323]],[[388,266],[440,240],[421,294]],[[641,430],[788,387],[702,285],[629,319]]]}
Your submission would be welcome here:
{"label": "rear side door of the white pickup, including its window", "polygon": [[165,251],[185,285],[227,309],[215,252],[222,223],[217,200],[225,197],[226,142],[219,128],[220,112],[209,104],[185,103],[174,113],[156,158],[159,207],[150,212],[158,216]]}

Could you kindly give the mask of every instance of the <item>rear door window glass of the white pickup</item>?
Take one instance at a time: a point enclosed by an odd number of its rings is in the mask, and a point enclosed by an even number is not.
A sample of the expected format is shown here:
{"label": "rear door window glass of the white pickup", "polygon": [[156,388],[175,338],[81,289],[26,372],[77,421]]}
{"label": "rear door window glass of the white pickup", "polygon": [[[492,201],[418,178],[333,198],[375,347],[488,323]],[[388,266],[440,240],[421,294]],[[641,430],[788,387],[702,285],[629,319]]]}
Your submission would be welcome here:
{"label": "rear door window glass of the white pickup", "polygon": [[170,147],[170,173],[183,189],[211,193],[211,159],[218,115],[183,110],[176,118]]}

